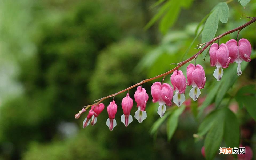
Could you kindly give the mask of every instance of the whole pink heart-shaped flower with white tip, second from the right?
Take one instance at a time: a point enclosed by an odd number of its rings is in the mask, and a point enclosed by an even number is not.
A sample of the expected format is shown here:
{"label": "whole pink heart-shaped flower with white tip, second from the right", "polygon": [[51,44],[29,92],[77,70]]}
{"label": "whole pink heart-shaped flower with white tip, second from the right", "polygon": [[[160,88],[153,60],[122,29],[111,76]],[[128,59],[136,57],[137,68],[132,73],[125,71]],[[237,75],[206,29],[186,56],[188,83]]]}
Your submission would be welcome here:
{"label": "whole pink heart-shaped flower with white tip, second from the right", "polygon": [[224,43],[221,45],[213,43],[210,47],[209,54],[211,66],[216,66],[213,76],[217,81],[220,81],[224,73],[222,68],[227,68],[230,63],[229,49]]}

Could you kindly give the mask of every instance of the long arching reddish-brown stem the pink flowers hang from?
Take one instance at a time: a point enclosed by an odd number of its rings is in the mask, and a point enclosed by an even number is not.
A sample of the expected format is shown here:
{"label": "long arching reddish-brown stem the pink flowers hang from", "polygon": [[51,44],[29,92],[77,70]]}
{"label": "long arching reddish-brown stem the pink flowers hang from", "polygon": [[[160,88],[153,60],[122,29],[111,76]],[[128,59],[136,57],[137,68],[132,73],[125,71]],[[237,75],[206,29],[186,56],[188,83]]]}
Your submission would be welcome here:
{"label": "long arching reddish-brown stem the pink flowers hang from", "polygon": [[195,57],[197,57],[199,54],[201,54],[201,53],[202,53],[208,46],[210,46],[214,41],[218,40],[218,39],[221,38],[221,37],[224,37],[225,35],[228,35],[228,34],[233,33],[233,32],[235,32],[235,31],[241,30],[241,29],[243,29],[243,28],[249,26],[251,23],[253,23],[253,22],[255,22],[255,21],[256,21],[256,17],[253,17],[253,18],[251,19],[251,21],[249,21],[249,22],[243,24],[242,26],[239,26],[239,27],[237,27],[237,28],[235,28],[235,29],[233,29],[233,30],[230,30],[230,31],[227,31],[227,32],[225,32],[225,33],[223,33],[223,34],[221,34],[221,35],[218,35],[217,37],[213,38],[211,41],[207,42],[206,45],[205,45],[199,52],[197,52],[195,55],[193,55],[192,57],[190,57],[189,59],[187,59],[187,60],[185,60],[185,61],[182,61],[182,62],[178,63],[179,65],[178,65],[177,67],[175,67],[174,69],[172,69],[172,70],[170,70],[170,71],[168,71],[168,72],[166,72],[166,73],[160,74],[160,75],[158,75],[158,76],[155,76],[155,77],[153,77],[153,78],[145,79],[145,80],[143,80],[143,81],[141,81],[141,82],[139,82],[139,83],[137,83],[137,84],[135,84],[135,85],[133,85],[133,86],[130,86],[130,87],[124,89],[124,90],[121,90],[121,91],[119,91],[119,92],[117,92],[117,93],[108,95],[107,97],[103,97],[103,98],[101,98],[97,103],[94,103],[94,104],[92,104],[92,105],[84,106],[83,108],[85,108],[85,109],[87,110],[89,107],[91,107],[91,106],[93,106],[93,105],[98,105],[100,102],[104,101],[104,100],[107,99],[107,98],[114,97],[114,96],[116,96],[116,95],[118,95],[118,94],[120,94],[120,93],[123,93],[123,92],[125,92],[125,91],[127,91],[127,90],[130,90],[130,89],[132,89],[132,88],[134,88],[134,87],[137,87],[137,86],[139,86],[139,85],[142,85],[142,83],[146,83],[146,82],[152,81],[152,80],[154,80],[154,79],[157,79],[157,78],[160,78],[160,77],[163,77],[163,76],[166,76],[166,75],[168,75],[168,74],[173,73],[173,71],[179,69],[181,66],[185,65],[186,63],[190,62],[190,61],[193,60]]}

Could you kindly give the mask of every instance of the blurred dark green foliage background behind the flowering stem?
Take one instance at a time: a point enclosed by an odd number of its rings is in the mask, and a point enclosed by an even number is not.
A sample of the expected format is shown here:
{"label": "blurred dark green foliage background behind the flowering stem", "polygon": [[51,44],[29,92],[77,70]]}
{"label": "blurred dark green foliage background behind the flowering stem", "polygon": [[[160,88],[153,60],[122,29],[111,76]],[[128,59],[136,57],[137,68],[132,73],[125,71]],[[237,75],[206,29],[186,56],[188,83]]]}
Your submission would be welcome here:
{"label": "blurred dark green foliage background behind the flowering stem", "polygon": [[[186,103],[178,128],[167,141],[166,125],[150,133],[159,118],[158,104],[150,95],[147,119],[136,119],[126,128],[120,121],[122,98],[118,105],[117,126],[106,126],[107,111],[99,115],[95,126],[82,128],[87,113],[74,115],[95,99],[120,91],[143,79],[169,71],[198,50],[195,40],[198,23],[221,1],[194,0],[179,6],[173,25],[162,32],[157,21],[143,28],[158,13],[156,0],[2,0],[0,15],[0,159],[203,159],[203,141],[195,142],[200,119],[193,107],[204,101],[215,78],[209,56],[197,58],[206,72],[207,83],[200,99]],[[229,3],[229,22],[219,23],[217,35],[249,21],[242,14],[256,16],[256,2],[243,8],[236,0]],[[256,48],[256,24],[243,29],[239,38]],[[237,33],[221,38],[235,39]],[[236,64],[233,64],[236,65]],[[181,70],[185,71],[187,65]],[[233,88],[254,84],[255,59],[238,78]],[[224,70],[225,74],[225,70]],[[162,81],[157,79],[156,81]],[[165,78],[170,84],[170,75]],[[187,89],[186,94],[190,89]],[[130,90],[134,97],[135,89]],[[112,98],[103,101],[105,107]],[[186,96],[186,99],[190,99]],[[134,102],[135,103],[135,102]],[[213,106],[212,104],[211,106]],[[173,105],[174,106],[174,105]],[[209,113],[207,107],[204,115]],[[255,121],[237,102],[230,108],[239,117],[241,138],[256,153]],[[137,108],[133,107],[134,116]],[[255,157],[255,155],[254,155]],[[217,159],[228,159],[226,155]]]}

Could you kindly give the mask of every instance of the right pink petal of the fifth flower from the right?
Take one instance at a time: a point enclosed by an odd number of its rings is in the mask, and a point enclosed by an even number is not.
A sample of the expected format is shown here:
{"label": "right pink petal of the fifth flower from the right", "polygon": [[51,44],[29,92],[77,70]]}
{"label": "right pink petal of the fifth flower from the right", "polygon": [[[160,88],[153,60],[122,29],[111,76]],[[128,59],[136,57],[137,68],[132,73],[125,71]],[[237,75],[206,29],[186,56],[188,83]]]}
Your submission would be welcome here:
{"label": "right pink petal of the fifth flower from the right", "polygon": [[161,90],[161,97],[167,106],[171,106],[173,99],[173,88],[168,83],[163,83]]}

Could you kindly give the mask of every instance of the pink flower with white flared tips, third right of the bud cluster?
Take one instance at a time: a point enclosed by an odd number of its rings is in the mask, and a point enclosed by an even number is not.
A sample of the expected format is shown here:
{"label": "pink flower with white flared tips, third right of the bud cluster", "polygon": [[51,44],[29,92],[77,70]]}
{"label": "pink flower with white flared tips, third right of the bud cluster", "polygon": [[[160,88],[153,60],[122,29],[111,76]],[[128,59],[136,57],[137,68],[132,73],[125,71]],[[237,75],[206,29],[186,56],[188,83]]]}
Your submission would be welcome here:
{"label": "pink flower with white flared tips, third right of the bud cluster", "polygon": [[141,123],[144,119],[147,118],[147,113],[145,109],[147,100],[149,99],[149,95],[147,95],[145,88],[141,89],[141,86],[138,86],[134,94],[134,98],[137,102],[138,107],[138,110],[135,112],[134,118],[136,118],[138,122]]}

